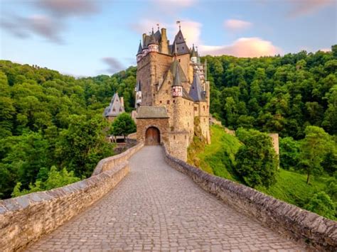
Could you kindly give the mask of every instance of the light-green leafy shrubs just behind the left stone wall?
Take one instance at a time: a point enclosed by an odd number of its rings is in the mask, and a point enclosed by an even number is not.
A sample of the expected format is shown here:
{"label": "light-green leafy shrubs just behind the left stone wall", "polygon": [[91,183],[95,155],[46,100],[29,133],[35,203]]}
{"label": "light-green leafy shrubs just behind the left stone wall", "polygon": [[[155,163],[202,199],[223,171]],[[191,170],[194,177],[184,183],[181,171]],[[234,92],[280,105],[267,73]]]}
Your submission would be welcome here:
{"label": "light-green leafy shrubs just behind the left stone wall", "polygon": [[68,172],[66,168],[58,171],[55,166],[50,168],[46,181],[36,180],[34,185],[29,185],[29,190],[23,189],[21,191],[21,182],[17,182],[14,190],[11,194],[12,197],[18,197],[26,195],[31,192],[38,192],[42,190],[50,190],[57,187],[63,187],[65,185],[80,181],[79,177],[75,177],[74,172]]}

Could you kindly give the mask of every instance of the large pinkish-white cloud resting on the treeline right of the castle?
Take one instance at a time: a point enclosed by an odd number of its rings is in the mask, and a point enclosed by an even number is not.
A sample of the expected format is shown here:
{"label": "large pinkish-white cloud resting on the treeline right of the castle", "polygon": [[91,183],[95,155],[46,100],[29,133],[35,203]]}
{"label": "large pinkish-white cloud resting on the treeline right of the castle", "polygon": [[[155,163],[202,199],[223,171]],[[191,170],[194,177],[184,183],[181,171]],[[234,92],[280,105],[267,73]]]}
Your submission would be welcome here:
{"label": "large pinkish-white cloud resting on the treeline right of the castle", "polygon": [[232,45],[200,45],[203,55],[232,55],[236,57],[260,57],[277,55],[282,50],[262,38],[239,38]]}

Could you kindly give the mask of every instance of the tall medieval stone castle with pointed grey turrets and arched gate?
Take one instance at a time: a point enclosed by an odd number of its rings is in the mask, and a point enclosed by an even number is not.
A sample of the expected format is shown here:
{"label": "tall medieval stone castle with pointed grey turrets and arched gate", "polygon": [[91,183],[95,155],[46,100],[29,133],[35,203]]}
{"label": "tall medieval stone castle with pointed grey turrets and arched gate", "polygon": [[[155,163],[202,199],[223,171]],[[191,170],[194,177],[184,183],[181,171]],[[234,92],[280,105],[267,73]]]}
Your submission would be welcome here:
{"label": "tall medieval stone castle with pointed grey turrets and arched gate", "polygon": [[164,144],[171,155],[187,159],[195,128],[210,143],[210,86],[206,62],[188,48],[179,31],[170,44],[166,28],[146,35],[137,53],[137,140]]}

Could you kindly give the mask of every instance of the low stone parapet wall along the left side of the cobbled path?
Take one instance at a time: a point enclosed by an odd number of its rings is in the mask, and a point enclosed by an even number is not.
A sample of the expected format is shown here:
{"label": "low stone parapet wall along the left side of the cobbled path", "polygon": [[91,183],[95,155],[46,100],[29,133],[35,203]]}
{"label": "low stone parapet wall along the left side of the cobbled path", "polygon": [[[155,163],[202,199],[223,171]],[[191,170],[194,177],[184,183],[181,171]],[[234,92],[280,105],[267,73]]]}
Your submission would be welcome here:
{"label": "low stone parapet wall along the left side of the cobbled path", "polygon": [[112,190],[129,172],[127,159],[143,146],[101,160],[85,180],[0,201],[0,248],[16,251],[61,226]]}

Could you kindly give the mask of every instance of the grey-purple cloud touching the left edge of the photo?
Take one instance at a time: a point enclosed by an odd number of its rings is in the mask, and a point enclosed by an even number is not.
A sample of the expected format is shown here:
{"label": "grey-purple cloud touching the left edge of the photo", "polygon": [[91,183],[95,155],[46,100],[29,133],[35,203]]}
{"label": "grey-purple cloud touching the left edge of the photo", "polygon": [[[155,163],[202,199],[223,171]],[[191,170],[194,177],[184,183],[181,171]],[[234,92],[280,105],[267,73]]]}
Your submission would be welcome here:
{"label": "grey-purple cloud touching the left edge of the photo", "polygon": [[63,43],[60,32],[63,23],[43,15],[33,15],[27,18],[13,16],[11,19],[1,20],[0,25],[18,38],[28,38],[31,34],[40,35],[54,43]]}

